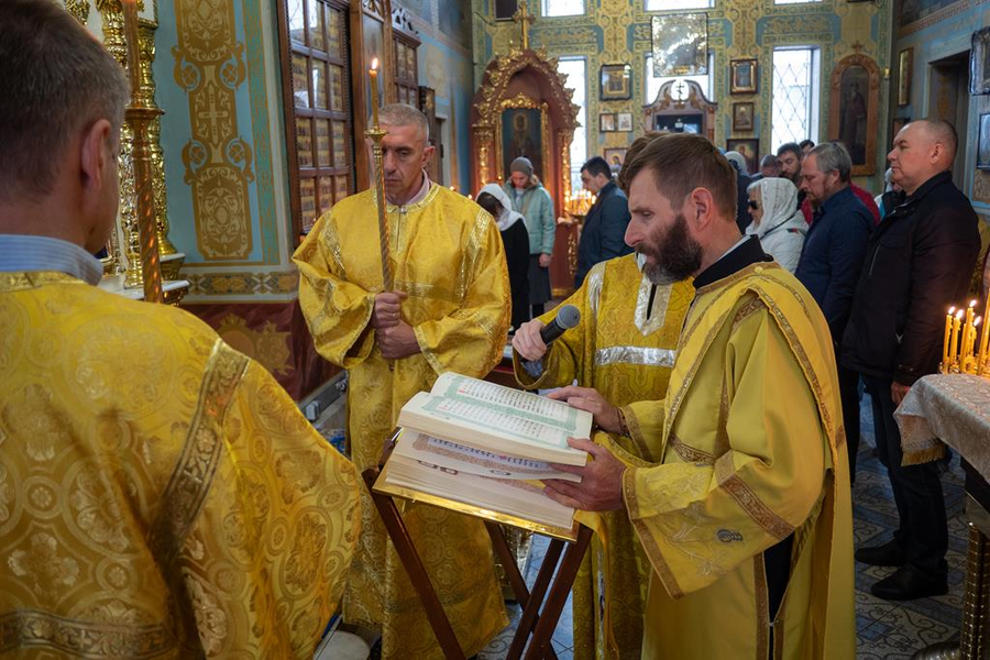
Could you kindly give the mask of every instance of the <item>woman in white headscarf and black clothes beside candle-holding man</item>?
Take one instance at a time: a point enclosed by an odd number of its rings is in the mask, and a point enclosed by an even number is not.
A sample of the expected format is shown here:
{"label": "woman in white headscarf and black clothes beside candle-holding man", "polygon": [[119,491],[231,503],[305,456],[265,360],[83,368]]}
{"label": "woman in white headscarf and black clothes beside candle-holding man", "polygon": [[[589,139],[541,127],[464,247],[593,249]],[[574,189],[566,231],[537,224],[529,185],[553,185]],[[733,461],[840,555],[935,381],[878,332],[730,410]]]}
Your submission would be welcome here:
{"label": "woman in white headscarf and black clothes beside candle-holding man", "polygon": [[513,210],[513,202],[498,184],[482,188],[475,201],[495,218],[502,233],[513,293],[513,330],[516,330],[529,320],[529,232],[522,213]]}

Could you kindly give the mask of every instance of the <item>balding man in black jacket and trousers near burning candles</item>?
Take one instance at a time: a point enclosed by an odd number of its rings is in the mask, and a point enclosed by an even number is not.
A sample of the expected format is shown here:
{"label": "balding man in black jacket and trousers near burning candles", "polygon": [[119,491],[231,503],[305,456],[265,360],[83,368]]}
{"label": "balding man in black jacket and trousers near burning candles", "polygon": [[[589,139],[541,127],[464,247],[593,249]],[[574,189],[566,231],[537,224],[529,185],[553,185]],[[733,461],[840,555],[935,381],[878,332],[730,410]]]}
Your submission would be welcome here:
{"label": "balding man in black jacket and trousers near burning candles", "polygon": [[945,501],[934,462],[902,465],[894,408],[938,367],[945,309],[965,297],[980,246],[977,216],[948,172],[957,136],[942,120],[911,122],[888,155],[903,188],[867,245],[843,364],[862,374],[873,406],[877,451],[900,516],[893,540],[860,548],[864,563],[899,566],[873,595],[905,601],[944,594],[948,547]]}

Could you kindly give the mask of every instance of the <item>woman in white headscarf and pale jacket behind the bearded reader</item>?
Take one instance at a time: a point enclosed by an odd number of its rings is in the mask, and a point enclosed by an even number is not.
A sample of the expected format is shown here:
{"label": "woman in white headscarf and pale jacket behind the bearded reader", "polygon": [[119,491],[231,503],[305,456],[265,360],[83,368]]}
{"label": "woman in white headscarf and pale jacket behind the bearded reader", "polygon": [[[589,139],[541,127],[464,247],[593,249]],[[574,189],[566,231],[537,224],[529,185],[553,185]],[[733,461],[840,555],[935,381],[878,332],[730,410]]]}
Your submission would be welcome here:
{"label": "woman in white headscarf and pale jacket behind the bearded reader", "polygon": [[798,208],[798,188],[785,178],[762,178],[747,193],[752,222],[746,233],[759,237],[763,252],[793,273],[807,233],[807,222]]}

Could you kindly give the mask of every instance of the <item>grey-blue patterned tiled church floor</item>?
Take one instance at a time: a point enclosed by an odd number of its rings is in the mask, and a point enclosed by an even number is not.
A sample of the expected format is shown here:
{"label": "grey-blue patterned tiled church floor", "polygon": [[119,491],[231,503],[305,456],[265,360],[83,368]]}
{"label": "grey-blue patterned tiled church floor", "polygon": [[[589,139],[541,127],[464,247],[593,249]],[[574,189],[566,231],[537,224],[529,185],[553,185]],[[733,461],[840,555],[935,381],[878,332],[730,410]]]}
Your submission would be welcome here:
{"label": "grey-blue patterned tiled church floor", "polygon": [[[887,471],[872,455],[873,422],[869,415],[869,399],[864,397],[864,441],[860,443],[856,485],[853,488],[854,535],[856,547],[876,544],[891,538],[897,526],[897,509],[890,492]],[[856,631],[857,658],[861,660],[908,660],[924,647],[959,635],[963,613],[963,580],[966,571],[968,529],[963,514],[963,471],[955,457],[943,474],[945,503],[949,516],[949,593],[936,598],[908,603],[881,601],[870,594],[870,585],[886,578],[893,569],[856,564]],[[527,584],[532,585],[547,549],[547,539],[537,537],[527,570]],[[501,660],[505,657],[519,620],[518,605],[509,607],[512,623],[479,656],[480,660]],[[564,607],[553,635],[553,648],[561,660],[572,660],[571,603]]]}

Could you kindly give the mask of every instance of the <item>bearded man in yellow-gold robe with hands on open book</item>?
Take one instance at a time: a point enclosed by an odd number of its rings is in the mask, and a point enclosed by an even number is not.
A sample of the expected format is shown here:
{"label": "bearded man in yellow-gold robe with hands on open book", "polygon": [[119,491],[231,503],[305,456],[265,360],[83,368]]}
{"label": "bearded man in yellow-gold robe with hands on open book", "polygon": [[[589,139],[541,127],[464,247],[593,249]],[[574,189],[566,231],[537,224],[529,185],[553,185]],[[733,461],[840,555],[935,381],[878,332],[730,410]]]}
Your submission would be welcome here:
{"label": "bearded man in yellow-gold robe with hands on open book", "polygon": [[[855,657],[849,474],[825,318],[735,223],[735,173],[700,135],[627,163],[626,241],[658,283],[696,297],[661,402],[569,399],[658,464],[571,440],[594,461],[548,494],[625,509],[653,569],[642,658]],[[644,398],[650,395],[642,393]],[[648,440],[649,439],[649,440]]]}

